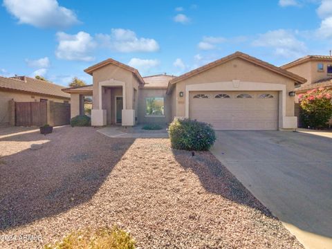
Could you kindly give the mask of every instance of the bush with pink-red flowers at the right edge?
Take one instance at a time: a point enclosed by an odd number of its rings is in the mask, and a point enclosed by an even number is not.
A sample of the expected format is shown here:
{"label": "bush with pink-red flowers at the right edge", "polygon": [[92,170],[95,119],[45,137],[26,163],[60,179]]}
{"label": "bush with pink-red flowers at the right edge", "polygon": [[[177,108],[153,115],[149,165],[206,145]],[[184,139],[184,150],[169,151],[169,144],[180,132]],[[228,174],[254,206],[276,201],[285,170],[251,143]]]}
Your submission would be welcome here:
{"label": "bush with pink-red flowers at the right edge", "polygon": [[327,126],[332,117],[332,91],[329,89],[313,89],[299,94],[301,118],[304,127],[321,129]]}

